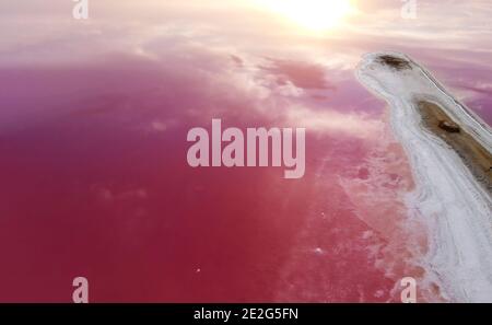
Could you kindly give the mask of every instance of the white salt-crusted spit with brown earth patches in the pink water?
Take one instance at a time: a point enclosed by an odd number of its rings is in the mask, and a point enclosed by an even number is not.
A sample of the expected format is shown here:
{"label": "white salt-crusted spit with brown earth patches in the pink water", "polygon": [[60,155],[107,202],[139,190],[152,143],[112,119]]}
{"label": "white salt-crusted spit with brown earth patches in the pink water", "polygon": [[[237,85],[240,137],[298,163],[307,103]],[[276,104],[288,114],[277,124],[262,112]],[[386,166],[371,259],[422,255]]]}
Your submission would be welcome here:
{"label": "white salt-crusted spit with brown earth patches in the pink water", "polygon": [[390,107],[412,166],[409,218],[426,225],[419,263],[447,301],[492,302],[492,132],[432,74],[397,53],[365,55],[356,76]]}

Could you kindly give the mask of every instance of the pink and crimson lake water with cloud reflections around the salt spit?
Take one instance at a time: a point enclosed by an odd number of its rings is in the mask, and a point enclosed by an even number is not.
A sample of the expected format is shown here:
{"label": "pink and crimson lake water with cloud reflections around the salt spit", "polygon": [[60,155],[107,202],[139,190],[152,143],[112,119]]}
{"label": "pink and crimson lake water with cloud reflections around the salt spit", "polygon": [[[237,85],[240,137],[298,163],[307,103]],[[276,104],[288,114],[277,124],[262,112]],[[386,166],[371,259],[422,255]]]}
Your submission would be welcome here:
{"label": "pink and crimson lake water with cloud reflections around the salt spit", "polygon": [[[12,3],[0,14],[0,301],[70,302],[83,276],[94,302],[383,302],[424,277],[410,165],[354,68],[405,51],[491,124],[488,1],[426,4],[412,22],[367,1],[323,35],[239,4],[108,1],[80,22],[70,3]],[[305,176],[189,167],[186,135],[212,118],[305,127]],[[432,285],[419,294],[440,300]]]}

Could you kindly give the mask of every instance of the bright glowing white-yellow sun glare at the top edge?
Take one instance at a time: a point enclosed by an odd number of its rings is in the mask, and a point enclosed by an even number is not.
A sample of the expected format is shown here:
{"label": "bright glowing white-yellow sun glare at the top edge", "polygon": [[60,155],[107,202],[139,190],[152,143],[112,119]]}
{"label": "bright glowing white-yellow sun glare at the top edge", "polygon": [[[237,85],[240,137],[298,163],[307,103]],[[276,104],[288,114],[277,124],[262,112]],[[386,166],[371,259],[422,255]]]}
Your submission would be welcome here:
{"label": "bright glowing white-yellow sun glare at the top edge", "polygon": [[332,28],[355,12],[352,0],[256,0],[259,5],[313,31]]}

